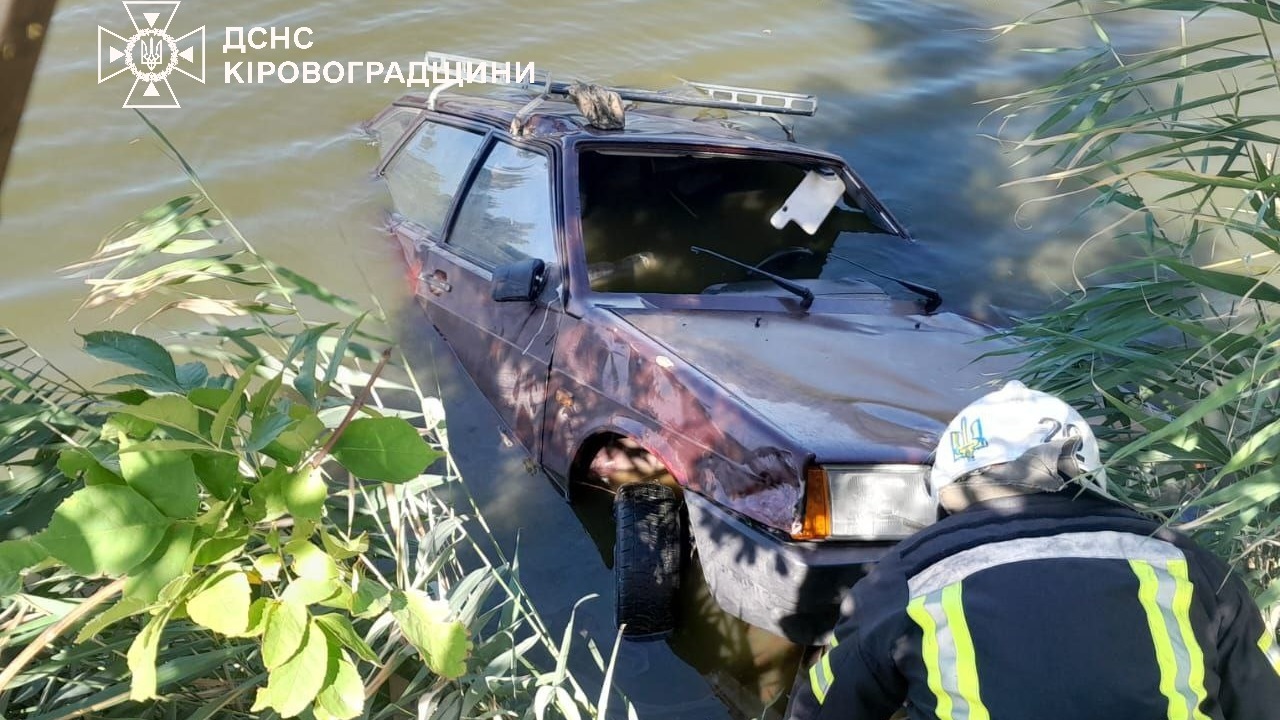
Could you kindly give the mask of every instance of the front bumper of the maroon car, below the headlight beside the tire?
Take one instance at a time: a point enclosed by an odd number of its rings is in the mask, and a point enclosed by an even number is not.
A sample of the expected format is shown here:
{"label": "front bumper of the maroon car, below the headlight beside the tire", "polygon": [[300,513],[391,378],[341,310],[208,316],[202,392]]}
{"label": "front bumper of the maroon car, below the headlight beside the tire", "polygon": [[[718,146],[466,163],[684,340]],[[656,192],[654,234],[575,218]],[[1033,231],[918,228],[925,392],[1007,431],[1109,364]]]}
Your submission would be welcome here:
{"label": "front bumper of the maroon car, below the headlight beside the tire", "polygon": [[690,532],[716,602],[735,618],[800,644],[822,644],[840,603],[895,543],[780,539],[694,492]]}

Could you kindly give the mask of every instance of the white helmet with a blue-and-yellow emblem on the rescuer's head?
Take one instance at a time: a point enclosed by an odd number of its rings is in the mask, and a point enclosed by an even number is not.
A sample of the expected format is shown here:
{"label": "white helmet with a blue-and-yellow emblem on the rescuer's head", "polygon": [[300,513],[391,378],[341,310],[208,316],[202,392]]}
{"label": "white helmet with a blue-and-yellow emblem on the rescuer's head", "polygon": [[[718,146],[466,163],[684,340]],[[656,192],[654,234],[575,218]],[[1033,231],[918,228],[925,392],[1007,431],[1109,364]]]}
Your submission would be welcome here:
{"label": "white helmet with a blue-and-yellow emblem on the rescuer's head", "polygon": [[1098,441],[1089,424],[1066,402],[1018,380],[972,402],[942,432],[929,473],[929,497],[941,503],[942,488],[984,469],[992,469],[983,473],[984,479],[1004,484],[1053,491],[1074,479],[1107,496]]}

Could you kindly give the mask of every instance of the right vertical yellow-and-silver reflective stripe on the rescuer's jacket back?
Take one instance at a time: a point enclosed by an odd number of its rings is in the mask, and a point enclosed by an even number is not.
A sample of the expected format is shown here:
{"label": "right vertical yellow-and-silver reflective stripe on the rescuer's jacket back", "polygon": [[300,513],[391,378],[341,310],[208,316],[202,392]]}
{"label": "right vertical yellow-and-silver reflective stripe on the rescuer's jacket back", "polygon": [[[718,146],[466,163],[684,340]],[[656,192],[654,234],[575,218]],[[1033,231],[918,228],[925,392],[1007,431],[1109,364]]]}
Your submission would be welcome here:
{"label": "right vertical yellow-and-silver reflective stripe on the rescuer's jacket back", "polygon": [[[1207,720],[1201,711],[1206,696],[1204,655],[1190,626],[1193,585],[1187,575],[1187,561],[1170,560],[1158,570],[1142,560],[1130,560],[1129,566],[1138,577],[1138,601],[1151,629],[1156,665],[1160,667],[1160,692],[1169,700],[1169,720]],[[1176,634],[1166,620],[1166,612],[1178,626]]]}

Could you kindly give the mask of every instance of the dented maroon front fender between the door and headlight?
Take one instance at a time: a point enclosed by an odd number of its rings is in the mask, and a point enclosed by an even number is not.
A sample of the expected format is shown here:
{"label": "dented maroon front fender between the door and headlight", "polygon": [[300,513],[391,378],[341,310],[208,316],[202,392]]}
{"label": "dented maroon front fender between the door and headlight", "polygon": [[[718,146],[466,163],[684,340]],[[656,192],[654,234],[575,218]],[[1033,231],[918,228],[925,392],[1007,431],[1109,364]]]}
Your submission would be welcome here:
{"label": "dented maroon front fender between the door and headlight", "polygon": [[566,319],[548,384],[543,465],[568,477],[600,432],[634,438],[689,489],[781,532],[809,456],[723,388],[604,309]]}

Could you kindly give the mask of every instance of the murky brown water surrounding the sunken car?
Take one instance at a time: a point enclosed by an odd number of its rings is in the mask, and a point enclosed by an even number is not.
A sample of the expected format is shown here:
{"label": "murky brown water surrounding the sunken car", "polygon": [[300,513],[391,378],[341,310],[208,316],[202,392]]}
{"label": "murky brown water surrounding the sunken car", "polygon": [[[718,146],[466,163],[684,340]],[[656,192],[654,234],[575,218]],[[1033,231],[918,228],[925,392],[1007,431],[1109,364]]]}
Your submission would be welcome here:
{"label": "murky brown water surrounding the sunken car", "polygon": [[[428,49],[535,61],[598,81],[669,87],[675,78],[814,92],[817,118],[799,138],[840,152],[919,238],[868,247],[864,261],[938,287],[947,309],[1001,322],[1044,307],[1073,284],[1083,225],[1074,208],[1032,204],[1029,188],[1000,188],[1030,168],[979,137],[977,102],[1052,77],[1071,55],[1025,46],[1080,46],[1087,27],[992,40],[991,27],[1041,0],[765,3],[724,0],[508,0],[256,3],[188,0],[177,26],[209,29],[207,83],[175,78],[179,110],[154,110],[257,247],[353,297],[378,296],[407,328],[449,410],[451,436],[471,492],[499,543],[518,536],[535,602],[562,628],[577,598],[599,593],[577,628],[607,651],[609,573],[586,530],[591,512],[568,507],[503,446],[495,418],[425,332],[402,272],[378,229],[385,195],[370,182],[375,151],[357,123],[399,95],[394,85],[227,85],[224,60],[408,63]],[[188,186],[129,110],[129,82],[96,82],[96,29],[129,27],[120,3],[63,0],[0,195],[0,325],[67,370],[105,369],[77,351],[76,332],[99,318],[68,316],[82,286],[56,268],[83,259],[110,228]],[[224,55],[225,27],[310,27],[308,50]],[[1249,32],[1235,18],[1202,31]],[[1128,24],[1112,37],[1138,49],[1172,44],[1176,27]],[[1196,38],[1193,38],[1196,40]],[[361,78],[364,79],[364,78]],[[1075,272],[1103,263],[1085,254]],[[197,324],[192,320],[192,325]],[[172,322],[168,331],[183,329]],[[595,528],[598,529],[598,528]],[[796,651],[718,614],[696,583],[686,626],[667,643],[628,643],[618,683],[650,717],[756,716],[790,684]]]}

